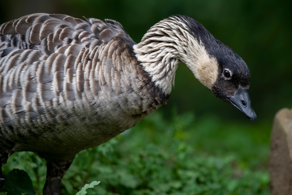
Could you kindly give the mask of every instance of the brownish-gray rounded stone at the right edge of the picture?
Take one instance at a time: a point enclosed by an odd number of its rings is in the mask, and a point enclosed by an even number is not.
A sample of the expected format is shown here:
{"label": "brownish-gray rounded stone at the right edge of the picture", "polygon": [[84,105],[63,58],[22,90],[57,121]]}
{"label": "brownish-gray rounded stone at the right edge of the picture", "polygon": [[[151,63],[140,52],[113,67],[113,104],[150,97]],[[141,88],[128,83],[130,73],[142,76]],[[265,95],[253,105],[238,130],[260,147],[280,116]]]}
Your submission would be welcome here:
{"label": "brownish-gray rounded stone at the right edge of the picture", "polygon": [[273,195],[292,194],[292,110],[277,112],[271,134],[269,160]]}

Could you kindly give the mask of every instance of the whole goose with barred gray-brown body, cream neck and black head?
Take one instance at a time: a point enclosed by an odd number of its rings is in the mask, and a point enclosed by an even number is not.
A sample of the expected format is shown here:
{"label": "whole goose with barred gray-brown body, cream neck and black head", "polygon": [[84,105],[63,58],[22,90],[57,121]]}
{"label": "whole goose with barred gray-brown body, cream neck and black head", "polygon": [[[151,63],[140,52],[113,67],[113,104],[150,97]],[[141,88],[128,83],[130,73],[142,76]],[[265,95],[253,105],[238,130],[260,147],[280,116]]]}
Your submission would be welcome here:
{"label": "whole goose with barred gray-brown body, cream neck and black head", "polygon": [[180,62],[215,96],[256,120],[246,63],[187,16],[161,20],[140,43],[110,19],[37,13],[2,24],[1,169],[12,153],[33,151],[46,160],[44,194],[59,194],[79,151],[167,102]]}

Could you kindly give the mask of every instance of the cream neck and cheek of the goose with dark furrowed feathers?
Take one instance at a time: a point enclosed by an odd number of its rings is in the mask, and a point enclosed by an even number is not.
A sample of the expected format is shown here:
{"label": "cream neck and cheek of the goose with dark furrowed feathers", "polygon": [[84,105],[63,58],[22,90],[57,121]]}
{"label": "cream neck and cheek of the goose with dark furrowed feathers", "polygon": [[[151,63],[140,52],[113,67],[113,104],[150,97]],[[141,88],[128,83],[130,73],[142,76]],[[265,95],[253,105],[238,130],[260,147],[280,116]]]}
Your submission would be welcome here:
{"label": "cream neck and cheek of the goose with dark furrowed feathers", "polygon": [[171,92],[180,62],[184,62],[209,89],[218,77],[216,59],[208,55],[204,45],[185,29],[187,25],[184,23],[162,20],[133,46],[138,61],[165,94]]}

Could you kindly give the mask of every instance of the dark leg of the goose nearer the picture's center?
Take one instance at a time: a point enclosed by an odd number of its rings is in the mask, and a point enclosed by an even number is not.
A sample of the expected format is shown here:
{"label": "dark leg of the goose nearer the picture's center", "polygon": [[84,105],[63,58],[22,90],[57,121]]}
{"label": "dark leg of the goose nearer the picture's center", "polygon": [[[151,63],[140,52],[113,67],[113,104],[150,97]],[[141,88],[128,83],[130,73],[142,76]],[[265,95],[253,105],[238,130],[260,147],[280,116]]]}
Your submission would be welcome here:
{"label": "dark leg of the goose nearer the picture's center", "polygon": [[47,161],[47,180],[44,186],[44,195],[59,195],[60,185],[65,172],[71,165],[71,159],[54,159]]}

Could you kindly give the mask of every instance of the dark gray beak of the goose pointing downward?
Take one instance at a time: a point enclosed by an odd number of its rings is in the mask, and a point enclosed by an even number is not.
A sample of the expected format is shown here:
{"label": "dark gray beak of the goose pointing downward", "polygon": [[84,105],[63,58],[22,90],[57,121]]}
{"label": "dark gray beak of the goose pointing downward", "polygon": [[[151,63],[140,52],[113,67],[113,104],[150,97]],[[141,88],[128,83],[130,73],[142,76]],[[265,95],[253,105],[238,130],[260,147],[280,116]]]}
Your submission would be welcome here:
{"label": "dark gray beak of the goose pointing downward", "polygon": [[229,98],[229,102],[251,121],[256,121],[256,113],[251,108],[251,100],[249,99],[247,89],[239,87],[237,93]]}

